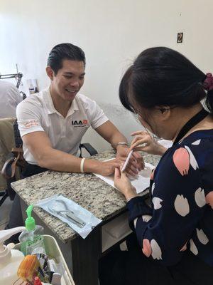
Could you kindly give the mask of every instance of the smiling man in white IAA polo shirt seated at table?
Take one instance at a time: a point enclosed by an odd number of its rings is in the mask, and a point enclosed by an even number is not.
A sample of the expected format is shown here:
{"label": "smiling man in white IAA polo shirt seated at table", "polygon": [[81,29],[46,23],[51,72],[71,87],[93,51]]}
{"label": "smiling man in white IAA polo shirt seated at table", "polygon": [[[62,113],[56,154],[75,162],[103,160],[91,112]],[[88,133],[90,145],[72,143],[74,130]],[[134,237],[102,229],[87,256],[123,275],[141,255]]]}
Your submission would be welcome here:
{"label": "smiling man in white IAA polo shirt seated at table", "polygon": [[[94,100],[79,94],[84,83],[85,56],[81,48],[62,43],[50,51],[46,73],[50,87],[30,95],[17,109],[18,128],[23,140],[27,166],[23,177],[45,170],[95,172],[111,175],[124,163],[129,153],[126,138],[108,120]],[[116,158],[109,162],[84,160],[77,156],[82,136],[92,126],[116,149]],[[130,175],[142,169],[142,157],[133,153],[127,167]],[[23,224],[16,195],[9,228]],[[13,241],[16,239],[13,237]]]}

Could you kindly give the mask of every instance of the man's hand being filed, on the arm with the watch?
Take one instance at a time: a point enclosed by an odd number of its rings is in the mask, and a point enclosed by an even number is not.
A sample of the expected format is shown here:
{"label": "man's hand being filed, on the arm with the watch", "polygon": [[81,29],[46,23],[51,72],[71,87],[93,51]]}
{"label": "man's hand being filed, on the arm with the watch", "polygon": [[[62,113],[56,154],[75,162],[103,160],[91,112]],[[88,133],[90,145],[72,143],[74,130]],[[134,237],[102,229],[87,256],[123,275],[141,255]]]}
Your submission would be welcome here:
{"label": "man's hand being filed, on the arm with the watch", "polygon": [[[122,157],[125,158],[129,155],[130,149],[127,147],[127,145],[118,145],[116,147],[116,157]],[[144,161],[143,157],[138,152],[133,152],[131,155],[131,158],[129,160],[129,163],[126,167],[126,172],[131,175],[135,176],[138,174],[139,171],[143,170],[144,168]]]}

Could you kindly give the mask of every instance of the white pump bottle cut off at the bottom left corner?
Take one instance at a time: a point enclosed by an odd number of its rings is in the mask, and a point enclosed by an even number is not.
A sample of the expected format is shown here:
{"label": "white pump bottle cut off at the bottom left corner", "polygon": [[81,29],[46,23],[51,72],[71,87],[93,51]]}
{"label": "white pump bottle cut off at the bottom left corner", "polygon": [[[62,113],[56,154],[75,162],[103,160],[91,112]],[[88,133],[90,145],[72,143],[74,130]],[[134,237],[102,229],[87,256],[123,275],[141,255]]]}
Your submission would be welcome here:
{"label": "white pump bottle cut off at the bottom left corner", "polygon": [[9,246],[4,245],[4,241],[25,230],[25,227],[15,227],[0,231],[0,284],[11,285],[17,279],[18,266],[24,259],[24,255],[17,249],[9,249]]}

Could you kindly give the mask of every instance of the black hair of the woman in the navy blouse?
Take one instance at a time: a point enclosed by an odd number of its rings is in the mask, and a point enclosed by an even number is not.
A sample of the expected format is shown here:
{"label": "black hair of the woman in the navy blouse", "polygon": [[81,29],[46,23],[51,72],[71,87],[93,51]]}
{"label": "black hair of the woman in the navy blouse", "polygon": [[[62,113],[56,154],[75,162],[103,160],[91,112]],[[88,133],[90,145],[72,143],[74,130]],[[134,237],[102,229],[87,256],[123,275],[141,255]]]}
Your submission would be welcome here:
{"label": "black hair of the woman in the navy blouse", "polygon": [[133,112],[132,102],[143,108],[190,107],[207,95],[213,110],[213,90],[206,94],[206,75],[185,56],[171,48],[148,48],[128,68],[119,87],[121,103]]}

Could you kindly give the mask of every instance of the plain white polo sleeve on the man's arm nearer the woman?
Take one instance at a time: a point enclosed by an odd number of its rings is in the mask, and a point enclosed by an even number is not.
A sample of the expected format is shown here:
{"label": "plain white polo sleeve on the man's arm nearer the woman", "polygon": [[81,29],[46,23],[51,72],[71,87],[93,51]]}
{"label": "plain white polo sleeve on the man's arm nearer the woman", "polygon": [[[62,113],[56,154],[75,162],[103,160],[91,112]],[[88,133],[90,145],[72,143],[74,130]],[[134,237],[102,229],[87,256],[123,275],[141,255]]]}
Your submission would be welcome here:
{"label": "plain white polo sleeve on the man's arm nearer the woman", "polygon": [[87,111],[87,116],[89,118],[89,123],[92,128],[96,129],[100,125],[109,120],[107,116],[104,114],[104,111],[97,105],[94,100],[87,98],[86,96],[82,97],[84,100],[84,108]]}

